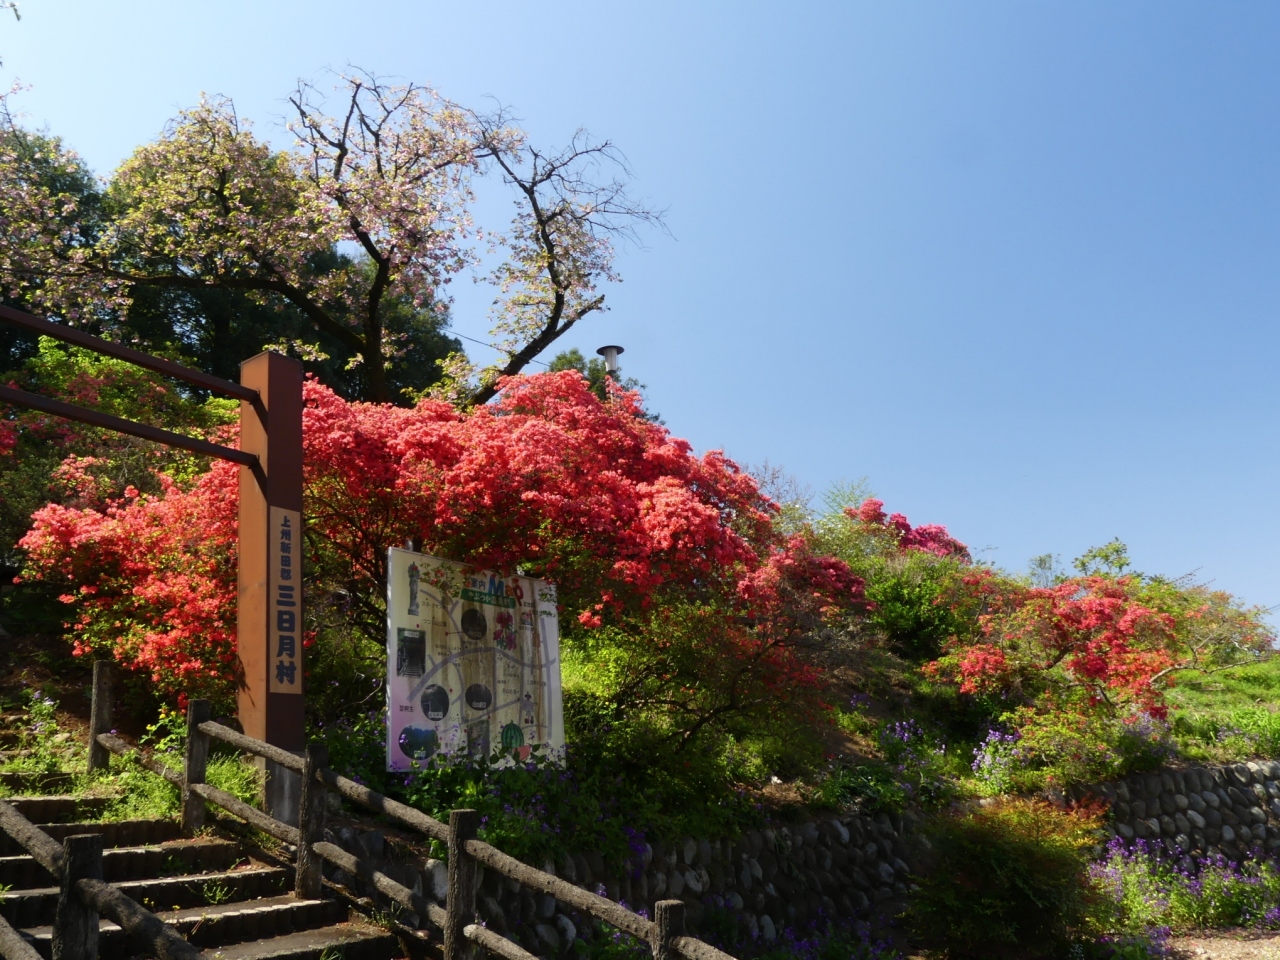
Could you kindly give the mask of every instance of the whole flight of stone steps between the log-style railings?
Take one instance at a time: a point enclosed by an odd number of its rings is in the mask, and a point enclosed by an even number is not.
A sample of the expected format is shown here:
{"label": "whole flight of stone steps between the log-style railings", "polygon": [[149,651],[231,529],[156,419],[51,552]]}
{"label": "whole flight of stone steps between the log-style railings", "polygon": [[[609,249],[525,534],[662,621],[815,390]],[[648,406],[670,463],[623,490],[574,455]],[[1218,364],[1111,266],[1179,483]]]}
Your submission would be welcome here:
{"label": "whole flight of stone steps between the log-style railings", "polygon": [[[238,840],[184,838],[169,820],[78,822],[95,801],[72,796],[9,800],[55,840],[101,833],[102,879],[156,913],[210,960],[390,960],[404,955],[381,927],[339,899],[298,900],[293,868]],[[51,957],[58,887],[31,856],[0,833],[0,915]],[[99,956],[137,956],[136,945],[100,922]]]}

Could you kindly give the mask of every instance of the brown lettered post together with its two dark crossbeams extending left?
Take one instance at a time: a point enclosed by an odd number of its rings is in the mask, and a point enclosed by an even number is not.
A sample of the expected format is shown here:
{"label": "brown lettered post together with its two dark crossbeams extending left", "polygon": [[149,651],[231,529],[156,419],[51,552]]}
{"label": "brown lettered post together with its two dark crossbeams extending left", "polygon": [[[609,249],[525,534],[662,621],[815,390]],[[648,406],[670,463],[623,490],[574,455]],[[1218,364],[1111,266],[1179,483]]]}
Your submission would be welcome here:
{"label": "brown lettered post together with its two dark crossbeams extending left", "polygon": [[[239,608],[237,652],[244,671],[239,721],[248,736],[301,753],[306,737],[302,680],[302,364],[259,353],[238,384],[91,337],[0,305],[0,321],[116,357],[241,402],[239,449],[148,424],[0,387],[0,403],[40,410],[106,430],[239,463]],[[266,769],[266,810],[297,824],[301,781]]]}

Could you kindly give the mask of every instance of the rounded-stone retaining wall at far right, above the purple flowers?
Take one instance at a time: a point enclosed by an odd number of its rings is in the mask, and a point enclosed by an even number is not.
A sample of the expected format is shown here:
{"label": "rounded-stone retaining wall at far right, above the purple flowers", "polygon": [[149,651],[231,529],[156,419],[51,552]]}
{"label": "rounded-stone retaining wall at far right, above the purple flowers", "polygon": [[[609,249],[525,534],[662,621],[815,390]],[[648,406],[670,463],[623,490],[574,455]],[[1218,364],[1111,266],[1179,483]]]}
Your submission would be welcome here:
{"label": "rounded-stone retaining wall at far right, above the purple flowers", "polygon": [[1280,852],[1275,760],[1134,773],[1089,792],[1111,804],[1111,836],[1162,846],[1188,868],[1206,855],[1240,861]]}

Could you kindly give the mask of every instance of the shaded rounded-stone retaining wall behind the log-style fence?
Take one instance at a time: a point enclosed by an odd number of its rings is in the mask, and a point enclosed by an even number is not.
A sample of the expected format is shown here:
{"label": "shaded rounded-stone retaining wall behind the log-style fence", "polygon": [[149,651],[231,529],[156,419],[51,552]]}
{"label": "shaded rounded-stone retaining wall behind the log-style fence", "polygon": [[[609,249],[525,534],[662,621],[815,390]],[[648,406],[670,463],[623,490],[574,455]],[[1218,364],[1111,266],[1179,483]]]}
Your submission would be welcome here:
{"label": "shaded rounded-stone retaining wall behind the log-style fence", "polygon": [[[822,915],[868,916],[874,904],[905,895],[913,827],[910,814],[841,815],[776,824],[733,842],[685,837],[676,844],[644,844],[621,876],[608,870],[596,851],[539,865],[649,916],[655,901],[682,900],[694,933],[712,923],[714,911],[721,924],[736,924],[744,933],[772,941],[786,927]],[[384,863],[389,876],[444,902],[444,863],[389,863],[379,831],[343,827],[332,838],[358,856]],[[360,886],[352,877],[330,878]],[[532,954],[570,952],[575,940],[600,936],[599,922],[494,870],[483,869],[479,883],[476,905],[485,924]]]}

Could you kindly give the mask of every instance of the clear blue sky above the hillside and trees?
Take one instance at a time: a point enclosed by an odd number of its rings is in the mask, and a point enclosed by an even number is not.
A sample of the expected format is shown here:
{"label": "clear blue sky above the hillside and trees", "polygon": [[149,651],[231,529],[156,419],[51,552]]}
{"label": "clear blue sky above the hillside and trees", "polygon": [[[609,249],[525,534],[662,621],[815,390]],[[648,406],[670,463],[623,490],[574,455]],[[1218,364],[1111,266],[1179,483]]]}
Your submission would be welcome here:
{"label": "clear blue sky above the hillside and trees", "polygon": [[[1011,570],[1114,536],[1280,604],[1280,5],[24,0],[0,81],[108,173],[358,64],[613,140],[612,312],[699,449],[867,476]],[[454,328],[484,337],[461,285]]]}

